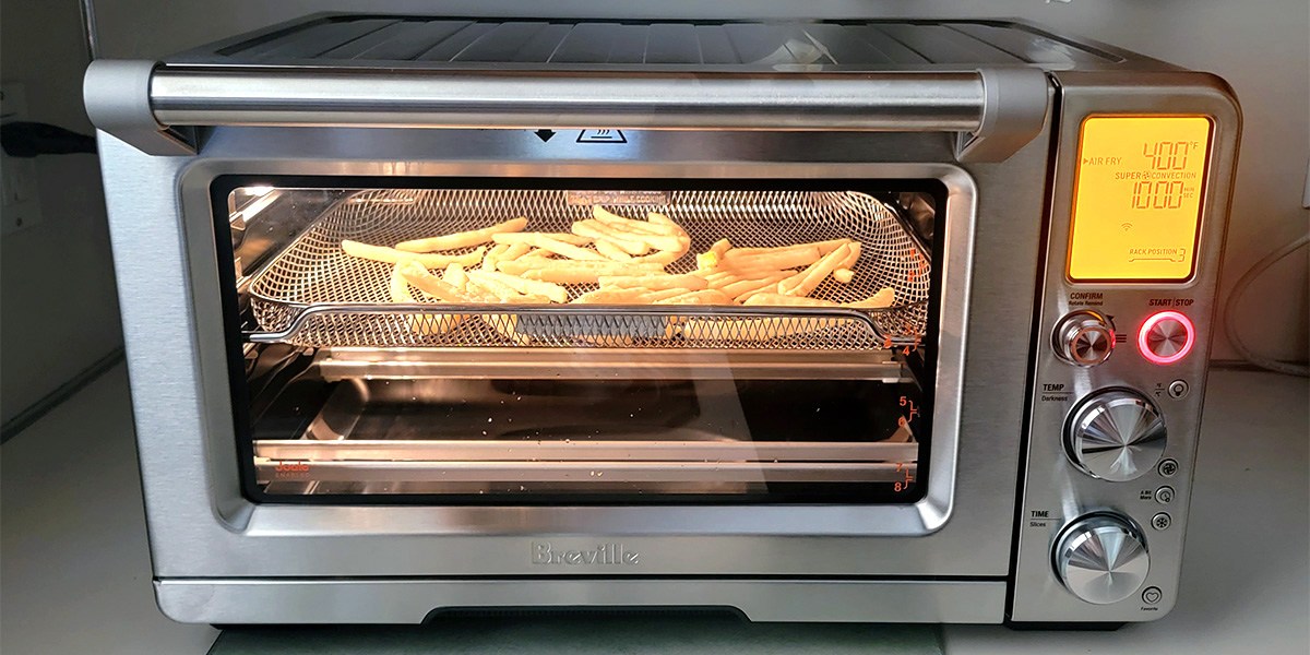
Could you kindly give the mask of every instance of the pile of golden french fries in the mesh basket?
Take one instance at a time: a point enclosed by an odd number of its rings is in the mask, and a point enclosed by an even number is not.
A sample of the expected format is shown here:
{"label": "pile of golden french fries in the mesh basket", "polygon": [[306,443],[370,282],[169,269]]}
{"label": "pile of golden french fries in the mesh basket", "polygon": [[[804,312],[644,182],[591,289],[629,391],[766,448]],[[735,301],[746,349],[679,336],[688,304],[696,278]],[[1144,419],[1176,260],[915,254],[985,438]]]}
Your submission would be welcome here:
{"label": "pile of golden french fries in the mesh basket", "polygon": [[[693,272],[672,274],[665,267],[688,254],[692,240],[681,225],[658,212],[648,212],[641,220],[595,206],[592,217],[574,221],[570,232],[528,232],[527,228],[528,219],[519,217],[394,246],[358,241],[342,241],[341,246],[347,255],[392,265],[389,293],[393,303],[861,309],[895,304],[891,288],[846,304],[810,297],[828,278],[842,284],[854,279],[861,252],[859,242],[850,238],[777,248],[734,248],[723,238],[696,255]],[[566,286],[593,287],[570,300]],[[469,318],[426,316],[411,316],[410,328],[422,334],[444,333]],[[757,328],[769,334],[782,326],[773,318],[761,321],[765,322]],[[512,318],[498,321],[493,328],[515,342],[525,342],[515,331]]]}

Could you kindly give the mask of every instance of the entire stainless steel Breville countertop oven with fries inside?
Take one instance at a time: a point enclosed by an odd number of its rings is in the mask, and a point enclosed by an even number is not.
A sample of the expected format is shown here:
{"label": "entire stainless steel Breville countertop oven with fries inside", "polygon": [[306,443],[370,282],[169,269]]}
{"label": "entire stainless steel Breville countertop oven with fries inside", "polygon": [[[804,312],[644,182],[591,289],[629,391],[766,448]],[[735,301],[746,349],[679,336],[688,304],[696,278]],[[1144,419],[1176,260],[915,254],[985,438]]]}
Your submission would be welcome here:
{"label": "entire stainless steel Breville countertop oven with fries inside", "polygon": [[1213,76],[1011,22],[320,16],[86,103],[176,620],[1175,601]]}

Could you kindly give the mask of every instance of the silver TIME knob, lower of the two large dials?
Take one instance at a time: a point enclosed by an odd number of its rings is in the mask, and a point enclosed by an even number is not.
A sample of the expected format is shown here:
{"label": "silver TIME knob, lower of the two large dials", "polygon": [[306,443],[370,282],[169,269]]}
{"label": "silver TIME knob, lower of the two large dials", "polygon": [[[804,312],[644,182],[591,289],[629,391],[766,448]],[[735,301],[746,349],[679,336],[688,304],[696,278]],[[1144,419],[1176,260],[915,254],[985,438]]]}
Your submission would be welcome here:
{"label": "silver TIME knob, lower of the two large dials", "polygon": [[1056,575],[1070,593],[1108,605],[1133,593],[1146,580],[1146,540],[1127,519],[1111,514],[1083,516],[1056,541]]}

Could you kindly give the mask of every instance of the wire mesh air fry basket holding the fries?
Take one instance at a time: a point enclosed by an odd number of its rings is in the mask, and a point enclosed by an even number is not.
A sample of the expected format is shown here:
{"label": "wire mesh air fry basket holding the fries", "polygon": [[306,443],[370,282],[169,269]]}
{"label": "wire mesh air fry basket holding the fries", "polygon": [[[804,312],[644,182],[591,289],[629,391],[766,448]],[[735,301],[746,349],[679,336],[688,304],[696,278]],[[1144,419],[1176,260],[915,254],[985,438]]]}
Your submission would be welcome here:
{"label": "wire mesh air fry basket holding the fries", "polygon": [[[652,199],[654,202],[646,203]],[[700,305],[396,304],[390,265],[345,254],[342,240],[376,245],[491,225],[517,216],[528,229],[569,232],[591,217],[586,194],[563,190],[371,190],[347,195],[250,284],[262,331],[252,341],[308,347],[645,347],[875,350],[924,334],[929,258],[893,210],[853,191],[671,191],[643,204],[605,204],[645,217],[658,211],[692,237],[668,272],[696,270],[694,253],[831,238],[861,244],[854,279],[825,280],[811,297],[852,303],[884,287],[887,309]],[[468,252],[464,249],[457,252]],[[574,299],[595,284],[569,287]]]}

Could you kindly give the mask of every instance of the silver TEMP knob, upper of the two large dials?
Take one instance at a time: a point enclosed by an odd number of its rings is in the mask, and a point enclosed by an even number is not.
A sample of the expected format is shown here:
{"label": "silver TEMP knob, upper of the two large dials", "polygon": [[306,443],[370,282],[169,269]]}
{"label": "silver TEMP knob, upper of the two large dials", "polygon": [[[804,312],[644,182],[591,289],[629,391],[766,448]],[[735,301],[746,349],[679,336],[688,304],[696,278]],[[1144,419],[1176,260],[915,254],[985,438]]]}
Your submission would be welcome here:
{"label": "silver TEMP knob, upper of the two large dials", "polygon": [[1111,389],[1074,407],[1065,449],[1094,478],[1127,482],[1155,468],[1165,453],[1165,418],[1145,396]]}

